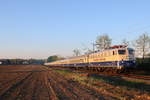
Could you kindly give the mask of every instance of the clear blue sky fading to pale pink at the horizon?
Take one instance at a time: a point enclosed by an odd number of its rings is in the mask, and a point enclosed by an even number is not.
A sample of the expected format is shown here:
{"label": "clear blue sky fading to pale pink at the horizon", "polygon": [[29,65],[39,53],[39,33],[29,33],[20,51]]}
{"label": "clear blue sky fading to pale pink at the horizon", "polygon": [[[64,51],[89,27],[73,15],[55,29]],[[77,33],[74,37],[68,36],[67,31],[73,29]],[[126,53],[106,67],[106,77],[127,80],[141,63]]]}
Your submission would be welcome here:
{"label": "clear blue sky fading to pale pink at the horizon", "polygon": [[0,0],[0,58],[71,56],[107,33],[150,33],[150,0]]}

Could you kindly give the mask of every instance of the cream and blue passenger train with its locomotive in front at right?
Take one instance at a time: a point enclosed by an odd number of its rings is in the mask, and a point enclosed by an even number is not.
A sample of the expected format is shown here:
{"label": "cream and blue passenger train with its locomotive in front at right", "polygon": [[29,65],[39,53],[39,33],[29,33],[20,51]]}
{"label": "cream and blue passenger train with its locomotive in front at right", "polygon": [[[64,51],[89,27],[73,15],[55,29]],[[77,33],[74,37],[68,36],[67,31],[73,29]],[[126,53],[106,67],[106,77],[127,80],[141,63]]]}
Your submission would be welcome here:
{"label": "cream and blue passenger train with its locomotive in front at right", "polygon": [[135,50],[125,45],[114,45],[102,51],[45,63],[46,66],[86,68],[96,70],[135,67]]}

